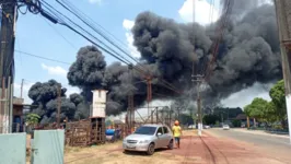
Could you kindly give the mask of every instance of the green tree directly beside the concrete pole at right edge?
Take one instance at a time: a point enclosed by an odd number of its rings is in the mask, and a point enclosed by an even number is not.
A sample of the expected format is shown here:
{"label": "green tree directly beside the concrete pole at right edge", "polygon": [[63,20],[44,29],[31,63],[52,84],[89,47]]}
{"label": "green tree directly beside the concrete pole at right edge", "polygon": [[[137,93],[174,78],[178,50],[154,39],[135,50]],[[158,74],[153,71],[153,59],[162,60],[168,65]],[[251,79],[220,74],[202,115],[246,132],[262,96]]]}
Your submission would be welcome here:
{"label": "green tree directly beside the concrete pole at right edge", "polygon": [[270,90],[269,95],[272,99],[275,113],[278,116],[278,119],[281,120],[283,128],[287,127],[287,106],[284,97],[284,82],[283,80],[278,81]]}

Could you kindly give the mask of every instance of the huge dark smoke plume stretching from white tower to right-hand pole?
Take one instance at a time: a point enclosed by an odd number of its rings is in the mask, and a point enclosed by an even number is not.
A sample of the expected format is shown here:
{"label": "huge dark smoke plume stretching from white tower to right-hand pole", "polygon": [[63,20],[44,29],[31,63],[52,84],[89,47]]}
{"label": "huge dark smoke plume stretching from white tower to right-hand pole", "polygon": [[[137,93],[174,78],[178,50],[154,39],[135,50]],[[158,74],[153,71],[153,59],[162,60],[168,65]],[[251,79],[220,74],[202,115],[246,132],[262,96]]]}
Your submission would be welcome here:
{"label": "huge dark smoke plume stretching from white tower to right-hand pole", "polygon": [[[275,9],[272,5],[256,7],[256,3],[244,0],[242,4],[233,4],[208,87],[202,93],[208,104],[219,103],[255,82],[266,83],[282,77]],[[206,61],[212,56],[217,26],[218,23],[207,27],[198,23],[179,24],[152,12],[138,14],[132,34],[141,60],[146,61],[142,69],[160,75],[179,91],[193,94],[196,92],[190,81],[193,62],[196,63],[195,72],[202,73]],[[92,46],[79,50],[68,72],[70,84],[82,89],[82,95],[89,102],[92,90],[108,91],[108,115],[127,109],[130,92],[135,93],[136,106],[144,102],[147,85],[140,82],[143,78],[137,71],[131,74],[127,66],[119,62],[106,67],[102,52]],[[165,89],[160,80],[154,80],[152,86],[153,93],[171,98],[181,96]],[[153,98],[161,96],[153,95]]]}

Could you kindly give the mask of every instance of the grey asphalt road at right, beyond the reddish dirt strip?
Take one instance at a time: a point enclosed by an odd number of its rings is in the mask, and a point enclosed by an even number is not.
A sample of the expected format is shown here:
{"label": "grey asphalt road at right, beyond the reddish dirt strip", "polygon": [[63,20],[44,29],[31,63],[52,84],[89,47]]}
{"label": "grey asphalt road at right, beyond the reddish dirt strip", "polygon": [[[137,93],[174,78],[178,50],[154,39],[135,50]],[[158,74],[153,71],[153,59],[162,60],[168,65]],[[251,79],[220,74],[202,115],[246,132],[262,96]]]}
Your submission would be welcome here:
{"label": "grey asphalt road at right, beyond the reddish dirt strip", "polygon": [[256,147],[264,148],[272,152],[277,152],[278,150],[280,152],[291,152],[291,144],[289,143],[289,138],[247,133],[234,131],[232,129],[222,130],[220,128],[207,129],[207,131],[216,137],[231,138],[234,140],[252,143]]}

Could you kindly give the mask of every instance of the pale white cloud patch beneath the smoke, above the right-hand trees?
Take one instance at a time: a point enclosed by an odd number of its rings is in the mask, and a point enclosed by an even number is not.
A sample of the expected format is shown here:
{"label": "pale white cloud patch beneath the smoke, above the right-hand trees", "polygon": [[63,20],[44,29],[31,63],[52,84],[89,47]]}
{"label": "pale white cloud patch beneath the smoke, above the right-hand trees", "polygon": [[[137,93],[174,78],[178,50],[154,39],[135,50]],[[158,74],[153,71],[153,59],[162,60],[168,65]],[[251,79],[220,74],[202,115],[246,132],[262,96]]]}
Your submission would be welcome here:
{"label": "pale white cloud patch beneath the smoke, above the right-hand trees", "polygon": [[255,83],[253,86],[247,87],[243,91],[236,92],[230,95],[228,98],[222,99],[221,104],[226,107],[244,107],[247,104],[251,104],[255,97],[261,97],[264,99],[270,101],[269,90],[272,86],[272,83],[269,84],[259,84]]}

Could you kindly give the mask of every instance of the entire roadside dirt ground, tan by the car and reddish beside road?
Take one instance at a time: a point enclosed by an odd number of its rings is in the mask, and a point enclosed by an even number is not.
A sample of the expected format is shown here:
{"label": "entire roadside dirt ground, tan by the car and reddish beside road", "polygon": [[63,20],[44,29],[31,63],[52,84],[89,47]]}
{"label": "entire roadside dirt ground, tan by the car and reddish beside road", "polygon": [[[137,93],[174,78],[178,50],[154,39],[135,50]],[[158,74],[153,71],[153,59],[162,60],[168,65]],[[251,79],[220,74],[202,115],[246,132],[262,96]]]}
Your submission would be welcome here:
{"label": "entire roadside dirt ground, tan by the car and reddish beside road", "polygon": [[254,145],[216,138],[207,132],[184,131],[181,149],[158,150],[152,156],[127,153],[121,142],[91,148],[66,148],[66,164],[288,164],[254,149]]}

